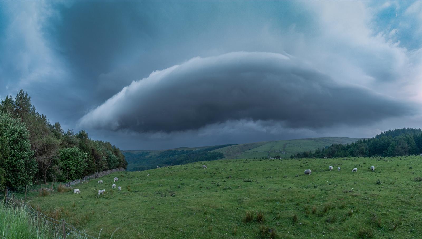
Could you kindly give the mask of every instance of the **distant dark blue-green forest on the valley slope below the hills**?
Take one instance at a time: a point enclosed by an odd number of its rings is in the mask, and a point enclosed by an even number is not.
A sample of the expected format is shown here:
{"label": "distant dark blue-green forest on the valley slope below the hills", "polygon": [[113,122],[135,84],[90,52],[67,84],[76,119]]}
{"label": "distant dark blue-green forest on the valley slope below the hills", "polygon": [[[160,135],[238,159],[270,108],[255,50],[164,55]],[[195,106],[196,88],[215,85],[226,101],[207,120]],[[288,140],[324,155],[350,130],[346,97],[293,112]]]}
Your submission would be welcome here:
{"label": "distant dark blue-green forest on the valley slope below the hills", "polygon": [[208,147],[205,149],[197,150],[166,150],[160,153],[154,151],[142,152],[124,152],[124,156],[128,162],[127,170],[129,171],[142,171],[152,168],[165,167],[170,165],[182,165],[198,161],[212,161],[224,158],[220,152],[210,152],[214,149],[219,149],[235,144],[226,144]]}

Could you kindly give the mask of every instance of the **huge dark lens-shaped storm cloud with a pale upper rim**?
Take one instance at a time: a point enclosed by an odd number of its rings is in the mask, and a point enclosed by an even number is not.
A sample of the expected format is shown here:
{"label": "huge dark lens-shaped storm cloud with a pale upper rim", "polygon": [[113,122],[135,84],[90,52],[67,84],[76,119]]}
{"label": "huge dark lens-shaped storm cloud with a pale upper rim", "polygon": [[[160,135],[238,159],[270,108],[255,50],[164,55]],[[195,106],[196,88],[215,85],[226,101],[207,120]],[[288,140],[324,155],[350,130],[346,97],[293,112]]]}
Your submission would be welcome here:
{"label": "huge dark lens-shaped storm cloud with a pale upper rim", "polygon": [[411,112],[409,104],[335,83],[295,58],[234,52],[192,58],[134,81],[82,117],[79,126],[175,132],[248,119],[320,128],[368,125]]}

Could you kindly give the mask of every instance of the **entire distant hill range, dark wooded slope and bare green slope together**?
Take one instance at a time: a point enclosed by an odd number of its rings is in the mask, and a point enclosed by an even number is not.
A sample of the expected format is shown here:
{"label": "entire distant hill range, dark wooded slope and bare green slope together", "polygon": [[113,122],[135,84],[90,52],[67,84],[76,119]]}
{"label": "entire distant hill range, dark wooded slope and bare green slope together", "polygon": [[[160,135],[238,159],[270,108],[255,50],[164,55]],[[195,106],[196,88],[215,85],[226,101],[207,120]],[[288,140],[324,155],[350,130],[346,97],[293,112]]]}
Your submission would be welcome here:
{"label": "entire distant hill range, dark wooded slope and bare green slope together", "polygon": [[258,143],[226,144],[203,147],[180,147],[167,150],[126,150],[122,151],[128,163],[127,170],[142,171],[169,165],[190,162],[212,161],[216,159],[253,159],[279,155],[290,157],[303,151],[314,151],[337,143],[353,143],[358,138],[324,137],[292,140],[266,141]]}

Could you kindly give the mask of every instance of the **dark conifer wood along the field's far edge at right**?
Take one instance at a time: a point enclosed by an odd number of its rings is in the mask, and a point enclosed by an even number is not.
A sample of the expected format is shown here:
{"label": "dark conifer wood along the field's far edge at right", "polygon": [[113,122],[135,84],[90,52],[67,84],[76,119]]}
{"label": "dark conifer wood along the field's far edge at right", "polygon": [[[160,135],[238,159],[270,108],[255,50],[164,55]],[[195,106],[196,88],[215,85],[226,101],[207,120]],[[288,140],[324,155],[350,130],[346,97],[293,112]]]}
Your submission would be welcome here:
{"label": "dark conifer wood along the field's far edge at right", "polygon": [[315,152],[298,153],[291,158],[402,156],[422,152],[422,130],[400,128],[351,144],[333,144]]}

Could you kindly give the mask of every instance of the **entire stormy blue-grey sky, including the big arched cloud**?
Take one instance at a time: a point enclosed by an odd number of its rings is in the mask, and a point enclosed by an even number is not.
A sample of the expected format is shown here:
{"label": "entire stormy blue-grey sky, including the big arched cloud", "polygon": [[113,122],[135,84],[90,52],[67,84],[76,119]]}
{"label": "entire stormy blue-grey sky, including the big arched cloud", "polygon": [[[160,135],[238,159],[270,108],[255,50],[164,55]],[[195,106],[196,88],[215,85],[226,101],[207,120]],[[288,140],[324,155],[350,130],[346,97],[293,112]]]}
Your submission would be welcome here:
{"label": "entire stormy blue-grey sky, including the big arched cloud", "polygon": [[422,127],[422,1],[1,1],[21,88],[120,149]]}

